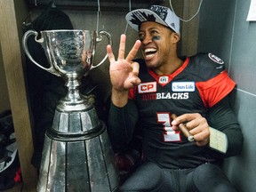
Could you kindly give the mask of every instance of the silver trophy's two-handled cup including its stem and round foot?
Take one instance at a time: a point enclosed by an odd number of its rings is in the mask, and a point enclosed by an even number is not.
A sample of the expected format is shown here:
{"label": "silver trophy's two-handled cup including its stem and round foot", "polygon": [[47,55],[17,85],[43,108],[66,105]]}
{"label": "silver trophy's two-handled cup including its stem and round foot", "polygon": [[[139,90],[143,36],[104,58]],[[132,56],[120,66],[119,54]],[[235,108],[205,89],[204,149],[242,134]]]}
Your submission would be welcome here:
{"label": "silver trophy's two-handled cup including its stem and round foot", "polygon": [[[35,36],[36,43],[44,48],[49,68],[37,63],[31,56],[28,51],[29,36]],[[79,29],[44,30],[39,36],[35,30],[28,30],[24,34],[22,45],[28,59],[37,67],[55,76],[61,76],[66,82],[68,94],[57,106],[60,111],[82,110],[90,105],[80,94],[78,87],[82,76],[86,76],[92,68],[99,67],[108,58],[106,54],[99,64],[93,64],[96,44],[102,40],[102,36],[107,36],[108,44],[112,44],[111,36],[106,31],[97,33],[95,30]]]}

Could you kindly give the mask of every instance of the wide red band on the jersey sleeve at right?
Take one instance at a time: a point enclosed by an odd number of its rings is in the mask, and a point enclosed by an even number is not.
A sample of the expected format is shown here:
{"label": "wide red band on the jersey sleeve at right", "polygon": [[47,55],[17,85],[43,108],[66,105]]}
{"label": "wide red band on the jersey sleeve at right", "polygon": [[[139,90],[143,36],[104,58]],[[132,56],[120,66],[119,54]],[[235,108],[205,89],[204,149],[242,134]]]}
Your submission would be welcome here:
{"label": "wide red band on the jersey sleeve at right", "polygon": [[231,92],[236,83],[228,76],[227,71],[223,71],[219,76],[215,76],[206,82],[197,82],[196,87],[201,95],[206,108],[212,108]]}

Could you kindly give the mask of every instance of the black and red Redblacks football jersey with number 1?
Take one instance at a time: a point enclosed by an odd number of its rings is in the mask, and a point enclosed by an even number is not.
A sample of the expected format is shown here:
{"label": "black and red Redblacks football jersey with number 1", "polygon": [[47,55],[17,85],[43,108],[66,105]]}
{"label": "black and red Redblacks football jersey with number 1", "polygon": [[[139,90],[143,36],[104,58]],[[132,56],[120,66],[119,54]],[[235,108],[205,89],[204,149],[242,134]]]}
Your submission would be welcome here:
{"label": "black and red Redblacks football jersey with number 1", "polygon": [[172,75],[157,76],[140,63],[141,84],[133,88],[129,98],[134,100],[140,114],[143,134],[143,156],[168,168],[192,168],[214,162],[207,147],[197,147],[181,132],[172,130],[172,113],[199,113],[206,116],[209,108],[234,89],[224,62],[212,53],[199,53],[187,58]]}

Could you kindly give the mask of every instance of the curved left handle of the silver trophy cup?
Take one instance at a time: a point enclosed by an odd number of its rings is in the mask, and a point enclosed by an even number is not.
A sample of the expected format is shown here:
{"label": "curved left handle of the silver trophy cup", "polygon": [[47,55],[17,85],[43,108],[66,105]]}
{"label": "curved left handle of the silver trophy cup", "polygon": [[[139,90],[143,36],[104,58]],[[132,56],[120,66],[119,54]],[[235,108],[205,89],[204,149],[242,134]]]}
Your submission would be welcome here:
{"label": "curved left handle of the silver trophy cup", "polygon": [[39,68],[43,68],[44,70],[54,74],[55,76],[60,76],[60,74],[58,74],[56,72],[56,70],[53,68],[52,63],[50,62],[51,67],[50,68],[44,68],[42,65],[40,65],[39,63],[36,62],[36,60],[33,59],[33,57],[31,56],[30,52],[28,51],[28,37],[34,35],[35,36],[35,41],[38,44],[43,44],[44,43],[44,38],[41,37],[40,39],[37,39],[38,33],[35,30],[28,30],[23,38],[22,38],[22,45],[23,45],[23,49],[24,52],[26,53],[26,55],[28,56],[28,59],[31,60],[33,63],[36,64],[36,66],[38,66]]}

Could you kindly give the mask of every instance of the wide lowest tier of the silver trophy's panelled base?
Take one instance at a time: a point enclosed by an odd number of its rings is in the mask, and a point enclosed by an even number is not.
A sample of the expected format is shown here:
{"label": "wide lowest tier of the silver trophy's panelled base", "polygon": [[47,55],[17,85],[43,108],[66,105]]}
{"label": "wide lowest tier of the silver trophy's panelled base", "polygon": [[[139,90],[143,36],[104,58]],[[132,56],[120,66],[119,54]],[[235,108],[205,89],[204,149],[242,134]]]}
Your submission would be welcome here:
{"label": "wide lowest tier of the silver trophy's panelled base", "polygon": [[84,139],[46,132],[37,191],[117,191],[114,153],[105,124],[100,126],[98,134]]}

